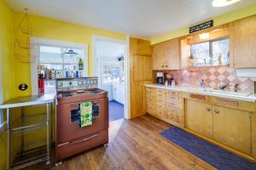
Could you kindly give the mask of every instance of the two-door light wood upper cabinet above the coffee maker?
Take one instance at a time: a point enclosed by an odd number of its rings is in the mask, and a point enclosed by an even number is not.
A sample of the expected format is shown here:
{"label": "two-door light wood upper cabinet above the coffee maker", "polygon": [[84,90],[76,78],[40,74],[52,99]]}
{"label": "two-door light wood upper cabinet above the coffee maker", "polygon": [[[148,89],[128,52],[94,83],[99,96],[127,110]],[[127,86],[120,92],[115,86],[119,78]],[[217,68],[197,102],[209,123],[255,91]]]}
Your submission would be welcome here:
{"label": "two-door light wood upper cabinet above the coffee maker", "polygon": [[155,44],[153,47],[153,70],[180,69],[178,38]]}

